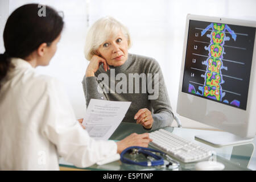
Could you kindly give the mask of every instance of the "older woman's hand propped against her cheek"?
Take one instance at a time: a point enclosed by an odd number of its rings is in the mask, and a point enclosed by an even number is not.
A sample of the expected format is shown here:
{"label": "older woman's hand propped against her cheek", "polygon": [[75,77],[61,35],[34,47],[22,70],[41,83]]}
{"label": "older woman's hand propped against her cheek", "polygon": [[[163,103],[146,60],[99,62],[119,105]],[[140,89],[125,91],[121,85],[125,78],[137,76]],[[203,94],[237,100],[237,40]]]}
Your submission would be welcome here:
{"label": "older woman's hand propped against her cheek", "polygon": [[108,65],[108,63],[106,63],[105,59],[103,59],[100,56],[93,55],[92,59],[90,60],[89,65],[86,69],[85,77],[94,76],[94,73],[97,72],[97,70],[101,64],[103,64],[105,71],[108,71],[108,69],[110,69],[109,65]]}

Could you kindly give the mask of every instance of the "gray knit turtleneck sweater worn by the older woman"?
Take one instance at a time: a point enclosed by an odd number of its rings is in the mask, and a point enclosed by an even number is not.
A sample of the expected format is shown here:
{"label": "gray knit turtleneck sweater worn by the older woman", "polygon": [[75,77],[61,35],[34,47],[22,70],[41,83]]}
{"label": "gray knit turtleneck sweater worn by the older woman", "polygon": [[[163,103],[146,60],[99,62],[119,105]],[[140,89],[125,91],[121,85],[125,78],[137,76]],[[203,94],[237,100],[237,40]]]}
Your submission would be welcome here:
{"label": "gray knit turtleneck sweater worn by the older woman", "polygon": [[[108,79],[105,80],[106,76]],[[141,78],[136,82],[134,77],[138,76]],[[144,82],[143,76],[146,78]],[[130,108],[122,122],[136,123],[134,115],[142,108],[147,108],[152,113],[154,123],[151,130],[170,126],[174,119],[162,71],[158,62],[150,57],[129,53],[123,65],[110,66],[107,72],[101,65],[94,77],[84,76],[82,86],[87,107],[91,98],[130,101]]]}

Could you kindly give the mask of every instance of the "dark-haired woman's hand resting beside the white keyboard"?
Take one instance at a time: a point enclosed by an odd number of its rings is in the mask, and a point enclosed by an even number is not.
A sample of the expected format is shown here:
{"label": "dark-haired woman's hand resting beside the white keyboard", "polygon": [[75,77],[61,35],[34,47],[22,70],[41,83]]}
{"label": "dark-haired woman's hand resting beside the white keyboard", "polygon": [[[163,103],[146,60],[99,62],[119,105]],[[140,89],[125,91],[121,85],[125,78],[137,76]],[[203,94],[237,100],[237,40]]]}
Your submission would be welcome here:
{"label": "dark-haired woman's hand resting beside the white keyboard", "polygon": [[152,139],[149,138],[148,133],[130,134],[128,137],[117,142],[117,152],[121,154],[123,150],[127,147],[131,146],[140,146],[140,147],[148,147],[148,143],[150,143]]}

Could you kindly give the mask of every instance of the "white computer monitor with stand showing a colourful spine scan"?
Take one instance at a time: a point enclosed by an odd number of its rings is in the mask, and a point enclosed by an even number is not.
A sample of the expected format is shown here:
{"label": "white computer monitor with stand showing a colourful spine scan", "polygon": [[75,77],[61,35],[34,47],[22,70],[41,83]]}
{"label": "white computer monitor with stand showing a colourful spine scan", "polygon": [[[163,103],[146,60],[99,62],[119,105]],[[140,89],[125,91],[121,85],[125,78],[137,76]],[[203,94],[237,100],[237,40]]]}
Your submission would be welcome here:
{"label": "white computer monitor with stand showing a colourful spine scan", "polygon": [[249,142],[256,131],[256,22],[187,15],[177,113],[223,132],[214,146]]}

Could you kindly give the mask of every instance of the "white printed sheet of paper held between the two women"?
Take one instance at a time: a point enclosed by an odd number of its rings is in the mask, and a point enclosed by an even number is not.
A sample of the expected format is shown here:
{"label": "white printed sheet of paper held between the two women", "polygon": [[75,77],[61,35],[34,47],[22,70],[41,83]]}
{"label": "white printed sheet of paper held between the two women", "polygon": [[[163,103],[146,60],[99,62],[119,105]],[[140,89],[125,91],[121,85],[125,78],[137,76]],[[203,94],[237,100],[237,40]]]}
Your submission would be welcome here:
{"label": "white printed sheet of paper held between the two women", "polygon": [[108,140],[119,126],[131,102],[91,99],[82,125],[90,137]]}

